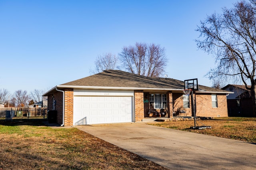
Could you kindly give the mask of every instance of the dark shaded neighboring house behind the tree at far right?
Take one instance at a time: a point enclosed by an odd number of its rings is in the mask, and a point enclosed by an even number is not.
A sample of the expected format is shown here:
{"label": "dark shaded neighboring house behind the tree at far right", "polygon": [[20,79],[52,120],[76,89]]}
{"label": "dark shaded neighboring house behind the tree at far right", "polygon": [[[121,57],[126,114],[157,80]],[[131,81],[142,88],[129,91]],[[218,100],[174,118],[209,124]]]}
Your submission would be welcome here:
{"label": "dark shaded neighboring house behind the tree at far right", "polygon": [[228,84],[222,90],[234,92],[227,96],[228,116],[253,116],[252,97],[245,85]]}

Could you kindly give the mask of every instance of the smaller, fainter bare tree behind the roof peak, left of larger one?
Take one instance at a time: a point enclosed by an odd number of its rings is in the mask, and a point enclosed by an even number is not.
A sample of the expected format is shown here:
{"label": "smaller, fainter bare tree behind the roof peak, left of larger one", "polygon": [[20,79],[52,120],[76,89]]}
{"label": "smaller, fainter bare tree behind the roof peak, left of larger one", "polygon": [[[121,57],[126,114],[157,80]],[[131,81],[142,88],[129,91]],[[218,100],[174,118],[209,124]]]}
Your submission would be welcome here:
{"label": "smaller, fainter bare tree behind the roof peak, left of larger one", "polygon": [[104,70],[112,70],[116,68],[117,57],[112,53],[99,55],[94,61],[95,68],[90,70],[92,74],[97,74]]}

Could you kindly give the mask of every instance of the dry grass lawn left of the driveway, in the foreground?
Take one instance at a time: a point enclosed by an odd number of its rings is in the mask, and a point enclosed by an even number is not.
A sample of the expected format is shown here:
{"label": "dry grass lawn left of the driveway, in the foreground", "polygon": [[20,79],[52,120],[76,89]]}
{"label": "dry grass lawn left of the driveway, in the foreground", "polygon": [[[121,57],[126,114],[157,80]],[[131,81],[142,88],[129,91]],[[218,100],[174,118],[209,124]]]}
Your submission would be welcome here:
{"label": "dry grass lawn left of the driveway, in the foreground", "polygon": [[0,170],[158,170],[164,167],[75,128],[0,123]]}

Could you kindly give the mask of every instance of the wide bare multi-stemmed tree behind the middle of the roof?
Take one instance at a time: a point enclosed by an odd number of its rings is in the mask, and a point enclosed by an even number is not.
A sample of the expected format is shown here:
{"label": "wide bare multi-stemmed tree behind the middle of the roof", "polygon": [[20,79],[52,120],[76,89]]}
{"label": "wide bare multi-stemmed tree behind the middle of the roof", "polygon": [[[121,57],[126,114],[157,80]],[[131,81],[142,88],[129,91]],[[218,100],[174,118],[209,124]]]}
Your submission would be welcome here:
{"label": "wide bare multi-stemmed tree behind the middle of the roof", "polygon": [[118,55],[121,68],[128,72],[158,77],[164,73],[166,54],[164,47],[155,44],[136,43],[134,46],[123,47]]}

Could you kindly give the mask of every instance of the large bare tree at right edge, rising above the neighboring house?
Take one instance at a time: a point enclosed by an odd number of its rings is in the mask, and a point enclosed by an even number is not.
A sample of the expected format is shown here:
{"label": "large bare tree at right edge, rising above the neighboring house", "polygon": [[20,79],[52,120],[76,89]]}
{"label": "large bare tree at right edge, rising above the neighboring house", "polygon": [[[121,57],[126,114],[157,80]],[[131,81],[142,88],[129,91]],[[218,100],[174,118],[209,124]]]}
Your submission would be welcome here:
{"label": "large bare tree at right edge, rising above the neighboring house", "polygon": [[215,55],[217,66],[208,72],[208,78],[225,81],[233,78],[243,82],[250,90],[255,116],[256,0],[237,2],[222,12],[201,21],[196,29],[200,32],[196,43],[199,49]]}

